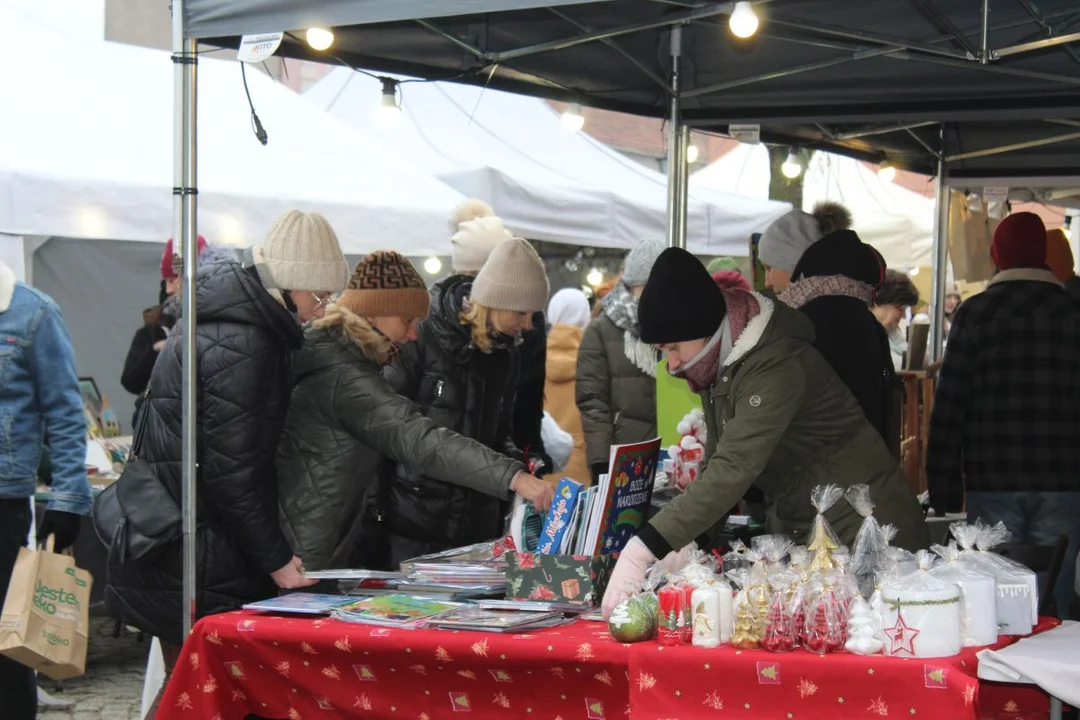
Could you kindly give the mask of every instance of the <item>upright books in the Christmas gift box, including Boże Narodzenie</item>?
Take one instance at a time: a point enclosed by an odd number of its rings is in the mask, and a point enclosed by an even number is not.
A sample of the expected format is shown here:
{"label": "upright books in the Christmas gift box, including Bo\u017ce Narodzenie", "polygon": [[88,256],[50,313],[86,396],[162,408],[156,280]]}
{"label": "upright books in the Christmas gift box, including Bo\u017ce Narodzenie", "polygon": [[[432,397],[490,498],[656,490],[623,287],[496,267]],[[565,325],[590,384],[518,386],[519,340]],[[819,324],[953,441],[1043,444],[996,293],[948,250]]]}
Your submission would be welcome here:
{"label": "upright books in the Christmas gift box, including Bo\u017ce Narodzenie", "polygon": [[544,520],[537,552],[545,555],[610,555],[645,524],[660,438],[611,447],[608,474],[585,488],[564,477]]}

